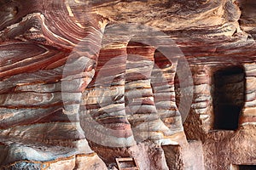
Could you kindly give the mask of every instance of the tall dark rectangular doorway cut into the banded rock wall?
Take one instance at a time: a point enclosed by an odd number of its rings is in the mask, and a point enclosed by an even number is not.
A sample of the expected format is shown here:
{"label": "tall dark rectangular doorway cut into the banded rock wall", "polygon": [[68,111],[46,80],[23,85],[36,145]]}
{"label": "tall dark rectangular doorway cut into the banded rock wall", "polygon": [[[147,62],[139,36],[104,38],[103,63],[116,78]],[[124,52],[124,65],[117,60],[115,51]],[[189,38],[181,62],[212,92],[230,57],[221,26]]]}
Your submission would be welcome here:
{"label": "tall dark rectangular doorway cut into the banded rock wall", "polygon": [[236,130],[245,98],[244,69],[232,66],[216,71],[213,83],[213,128]]}

